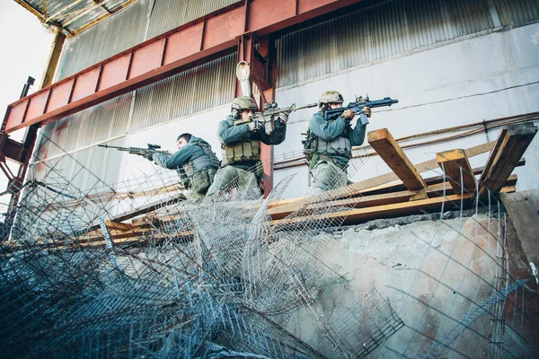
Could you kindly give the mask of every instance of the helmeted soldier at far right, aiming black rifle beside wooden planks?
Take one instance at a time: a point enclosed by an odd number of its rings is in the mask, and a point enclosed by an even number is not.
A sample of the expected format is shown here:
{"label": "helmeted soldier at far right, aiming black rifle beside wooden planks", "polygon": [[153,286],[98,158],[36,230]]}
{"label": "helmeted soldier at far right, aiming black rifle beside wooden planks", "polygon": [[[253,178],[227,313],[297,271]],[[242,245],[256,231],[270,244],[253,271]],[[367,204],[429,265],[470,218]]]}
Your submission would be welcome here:
{"label": "helmeted soldier at far right, aiming black rifle beside wooden planks", "polygon": [[[305,141],[305,155],[314,178],[314,193],[346,186],[346,172],[349,159],[352,157],[352,146],[363,144],[367,125],[356,123],[351,127],[351,120],[356,115],[350,109],[341,115],[324,118],[326,109],[342,107],[342,95],[336,91],[323,92],[318,101],[319,112],[316,112],[309,123],[308,136]],[[370,108],[363,108],[370,118]],[[311,157],[312,156],[312,157]]]}

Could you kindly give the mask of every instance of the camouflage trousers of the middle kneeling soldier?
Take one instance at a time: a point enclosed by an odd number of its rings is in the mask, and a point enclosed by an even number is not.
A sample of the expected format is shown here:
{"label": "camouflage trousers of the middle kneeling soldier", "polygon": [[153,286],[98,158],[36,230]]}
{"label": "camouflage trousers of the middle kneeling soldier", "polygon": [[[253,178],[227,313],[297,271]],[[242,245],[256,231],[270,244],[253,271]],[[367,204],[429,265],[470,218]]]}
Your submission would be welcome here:
{"label": "camouflage trousers of the middle kneeling soldier", "polygon": [[240,192],[245,192],[255,196],[260,196],[261,194],[258,180],[254,173],[229,165],[217,171],[216,178],[214,179],[211,187],[208,189],[206,196],[216,196],[219,194],[219,192],[227,187],[230,189],[237,188]]}

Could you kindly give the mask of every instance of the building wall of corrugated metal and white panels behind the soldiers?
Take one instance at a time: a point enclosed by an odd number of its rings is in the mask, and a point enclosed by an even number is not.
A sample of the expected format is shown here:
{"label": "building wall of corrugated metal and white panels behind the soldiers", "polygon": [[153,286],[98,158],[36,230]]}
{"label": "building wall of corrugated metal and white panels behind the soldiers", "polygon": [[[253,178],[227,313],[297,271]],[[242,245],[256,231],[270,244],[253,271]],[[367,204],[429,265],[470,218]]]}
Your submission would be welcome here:
{"label": "building wall of corrugated metal and white panels behind the soldiers", "polygon": [[[66,39],[56,81],[233,3],[139,0]],[[539,110],[539,9],[534,3],[371,1],[330,19],[317,18],[278,35],[276,101],[303,105],[329,89],[340,91],[345,101],[366,92],[371,99],[398,99],[392,108],[375,110],[367,129],[387,127],[395,138],[416,136],[402,142],[410,145],[406,153],[414,163],[447,149],[493,141],[499,128],[472,125]],[[159,143],[173,151],[182,132],[207,139],[220,155],[216,126],[234,99],[236,62],[233,52],[42,127],[31,176],[39,180],[48,169],[61,168],[83,192],[98,190],[96,181],[113,186],[155,168],[97,144]],[[292,114],[286,141],[274,148],[274,182],[297,173],[285,197],[302,196],[308,189],[304,162],[290,160],[301,157],[302,134],[314,111]],[[432,133],[449,127],[463,128]],[[424,133],[431,134],[418,136]],[[537,141],[528,148],[526,166],[516,171],[517,189],[538,183]],[[480,156],[471,159],[472,166],[476,160],[484,162]],[[390,171],[376,156],[356,162],[353,181]],[[95,176],[80,175],[81,166]]]}

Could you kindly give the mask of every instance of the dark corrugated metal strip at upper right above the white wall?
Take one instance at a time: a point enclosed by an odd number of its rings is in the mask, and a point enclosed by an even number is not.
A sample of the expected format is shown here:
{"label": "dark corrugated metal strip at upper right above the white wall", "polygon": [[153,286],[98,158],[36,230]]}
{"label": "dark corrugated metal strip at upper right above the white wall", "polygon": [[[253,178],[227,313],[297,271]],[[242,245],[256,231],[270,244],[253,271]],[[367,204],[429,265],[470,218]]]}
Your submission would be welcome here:
{"label": "dark corrugated metal strip at upper right above the white wall", "polygon": [[[494,4],[495,6],[493,6]],[[391,0],[278,40],[278,87],[502,25],[539,19],[536,0]]]}

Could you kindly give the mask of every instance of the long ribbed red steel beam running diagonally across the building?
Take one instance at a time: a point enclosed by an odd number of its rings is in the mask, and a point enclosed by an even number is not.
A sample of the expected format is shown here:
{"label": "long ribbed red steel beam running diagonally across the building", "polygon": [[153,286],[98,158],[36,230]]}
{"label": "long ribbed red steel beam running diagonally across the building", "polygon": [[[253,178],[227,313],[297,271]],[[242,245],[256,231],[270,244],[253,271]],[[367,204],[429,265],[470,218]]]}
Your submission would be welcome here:
{"label": "long ribbed red steel beam running diagonally across the building", "polygon": [[[149,39],[8,106],[2,132],[57,121],[238,44],[361,0],[245,0]],[[278,4],[278,5],[277,5]]]}

